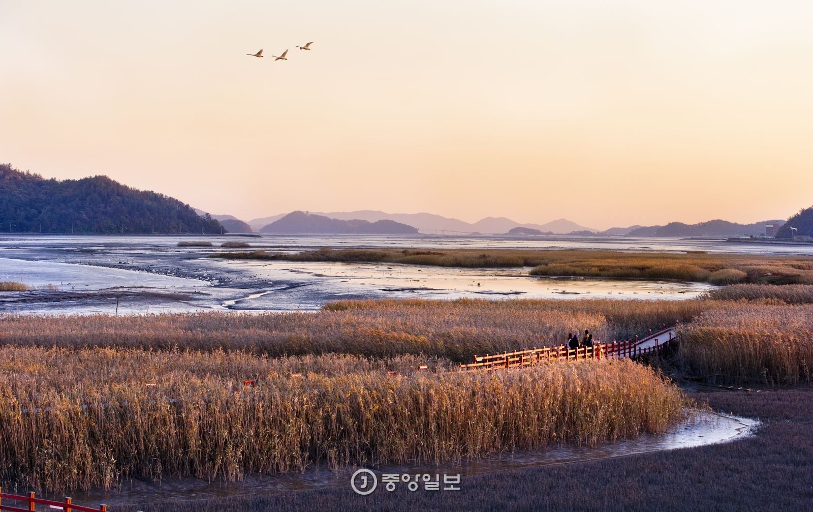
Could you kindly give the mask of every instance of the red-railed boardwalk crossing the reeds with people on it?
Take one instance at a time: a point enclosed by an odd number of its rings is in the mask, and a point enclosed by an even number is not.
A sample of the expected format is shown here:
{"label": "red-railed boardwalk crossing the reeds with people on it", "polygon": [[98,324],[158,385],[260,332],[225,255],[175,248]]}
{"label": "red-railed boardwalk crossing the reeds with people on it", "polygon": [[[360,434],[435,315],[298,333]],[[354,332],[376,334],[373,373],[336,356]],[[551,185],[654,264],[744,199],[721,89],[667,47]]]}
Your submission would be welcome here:
{"label": "red-railed boardwalk crossing the reeds with people on it", "polygon": [[[602,344],[597,341],[592,347],[568,348],[567,345],[551,345],[544,348],[529,348],[515,352],[502,352],[500,354],[475,356],[474,361],[467,365],[460,365],[461,370],[501,370],[503,368],[520,368],[532,366],[551,359],[602,359],[638,357],[660,352],[672,344],[673,330],[664,329],[644,339],[625,339]],[[659,338],[668,335],[663,342]]]}

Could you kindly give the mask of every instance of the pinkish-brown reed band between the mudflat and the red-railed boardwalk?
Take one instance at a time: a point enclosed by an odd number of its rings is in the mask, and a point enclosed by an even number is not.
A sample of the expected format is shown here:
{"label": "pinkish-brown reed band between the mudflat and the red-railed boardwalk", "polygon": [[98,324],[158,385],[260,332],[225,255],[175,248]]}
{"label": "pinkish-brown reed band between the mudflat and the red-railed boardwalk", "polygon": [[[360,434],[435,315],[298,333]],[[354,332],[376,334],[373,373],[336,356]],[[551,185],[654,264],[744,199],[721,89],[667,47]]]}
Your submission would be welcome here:
{"label": "pinkish-brown reed band between the mudflat and the red-railed boardwalk", "polygon": [[358,300],[313,313],[185,313],[144,316],[0,315],[0,345],[246,350],[270,356],[346,352],[472,355],[563,344],[569,332],[627,339],[677,320],[703,300]]}

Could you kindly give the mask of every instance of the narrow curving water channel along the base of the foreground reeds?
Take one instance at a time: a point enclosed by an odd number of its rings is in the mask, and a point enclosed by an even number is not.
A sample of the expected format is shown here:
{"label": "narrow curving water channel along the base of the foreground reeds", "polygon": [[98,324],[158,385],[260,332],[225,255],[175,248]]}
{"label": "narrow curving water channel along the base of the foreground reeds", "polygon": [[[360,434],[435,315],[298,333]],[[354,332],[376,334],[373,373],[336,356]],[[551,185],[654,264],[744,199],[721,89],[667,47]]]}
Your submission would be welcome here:
{"label": "narrow curving water channel along the base of the foreground reeds", "polygon": [[[588,446],[556,446],[537,450],[523,450],[514,453],[502,453],[483,457],[472,461],[464,461],[458,465],[451,463],[435,465],[399,465],[380,466],[372,468],[376,475],[378,486],[374,492],[387,492],[382,482],[382,475],[409,475],[415,480],[415,475],[428,475],[428,479],[439,478],[441,488],[444,477],[459,475],[461,489],[466,488],[466,477],[492,473],[495,471],[513,470],[534,466],[550,466],[588,461],[592,459],[622,457],[636,453],[647,453],[671,449],[692,448],[706,444],[726,443],[754,435],[759,422],[750,418],[720,415],[702,412],[697,418],[673,427],[665,434],[641,435],[634,440],[618,440],[615,443],[602,444],[595,448]],[[290,492],[318,488],[350,487],[351,475],[358,468],[348,468],[340,472],[327,469],[311,469],[304,473],[289,475],[247,475],[241,482],[213,482],[206,480],[185,478],[164,480],[160,484],[133,480],[126,482],[115,491],[75,492],[73,501],[82,505],[97,505],[106,503],[146,505],[156,501],[191,501],[205,500],[216,497],[234,497],[251,495],[263,492]],[[420,490],[423,490],[424,480],[420,479]],[[398,486],[406,487],[406,481],[401,480]],[[54,497],[58,498],[58,497]]]}

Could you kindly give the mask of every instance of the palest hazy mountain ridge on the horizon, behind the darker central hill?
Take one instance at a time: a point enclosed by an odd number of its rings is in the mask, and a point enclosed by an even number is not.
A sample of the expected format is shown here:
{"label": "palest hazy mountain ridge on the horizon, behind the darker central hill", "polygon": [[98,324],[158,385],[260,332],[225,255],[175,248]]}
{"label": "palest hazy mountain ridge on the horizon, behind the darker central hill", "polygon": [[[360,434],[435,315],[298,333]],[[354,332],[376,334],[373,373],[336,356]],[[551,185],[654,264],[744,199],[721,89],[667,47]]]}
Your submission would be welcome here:
{"label": "palest hazy mountain ridge on the horizon, behind the darker central hill", "polygon": [[[376,222],[376,221],[396,221],[402,224],[411,225],[422,233],[448,233],[448,234],[505,234],[516,227],[524,227],[532,230],[539,230],[542,232],[550,232],[554,234],[567,234],[572,231],[592,231],[583,225],[578,225],[576,222],[568,221],[567,219],[558,219],[555,221],[547,222],[546,224],[520,224],[519,222],[512,221],[506,217],[485,217],[476,222],[460,221],[449,217],[443,217],[433,213],[387,213],[377,210],[357,210],[354,212],[310,212],[314,215],[320,215],[338,220],[350,221],[354,219]],[[254,230],[261,230],[264,225],[271,224],[274,221],[285,217],[285,213],[275,215],[272,217],[262,217],[249,221],[249,225]]]}

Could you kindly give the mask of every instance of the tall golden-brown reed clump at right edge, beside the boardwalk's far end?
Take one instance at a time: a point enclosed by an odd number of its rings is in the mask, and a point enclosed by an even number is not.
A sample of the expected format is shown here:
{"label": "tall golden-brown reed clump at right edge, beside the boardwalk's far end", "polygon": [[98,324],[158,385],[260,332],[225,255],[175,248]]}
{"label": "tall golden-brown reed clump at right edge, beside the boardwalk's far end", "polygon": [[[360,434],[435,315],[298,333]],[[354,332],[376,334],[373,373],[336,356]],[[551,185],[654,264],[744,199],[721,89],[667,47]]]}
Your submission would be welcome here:
{"label": "tall golden-brown reed clump at right edge, beside the boardwalk's far end", "polygon": [[681,330],[680,363],[719,383],[813,385],[813,306],[730,302]]}

